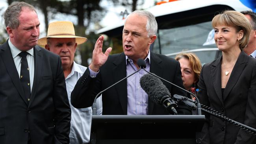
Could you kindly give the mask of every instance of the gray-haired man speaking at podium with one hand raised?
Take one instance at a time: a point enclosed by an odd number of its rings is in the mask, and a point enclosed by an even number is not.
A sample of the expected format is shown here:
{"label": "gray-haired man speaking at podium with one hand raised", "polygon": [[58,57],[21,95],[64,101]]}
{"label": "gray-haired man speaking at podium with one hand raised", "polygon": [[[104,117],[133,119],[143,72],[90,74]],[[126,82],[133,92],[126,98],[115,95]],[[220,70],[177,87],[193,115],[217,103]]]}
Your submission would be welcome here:
{"label": "gray-haired man speaking at podium with one hand raised", "polygon": [[[103,36],[100,36],[93,50],[91,65],[78,80],[71,94],[71,103],[76,108],[90,107],[101,90],[116,83],[139,69],[137,60],[144,59],[146,69],[156,75],[183,87],[180,64],[164,55],[150,52],[149,47],[156,39],[157,22],[148,11],[134,11],[124,24],[122,33],[123,53],[109,55],[112,48],[102,53]],[[102,114],[168,114],[160,105],[148,100],[141,89],[139,79],[145,74],[139,71],[128,79],[102,94]],[[164,83],[171,94],[185,96],[182,90]],[[178,114],[191,114],[185,105],[177,107]]]}

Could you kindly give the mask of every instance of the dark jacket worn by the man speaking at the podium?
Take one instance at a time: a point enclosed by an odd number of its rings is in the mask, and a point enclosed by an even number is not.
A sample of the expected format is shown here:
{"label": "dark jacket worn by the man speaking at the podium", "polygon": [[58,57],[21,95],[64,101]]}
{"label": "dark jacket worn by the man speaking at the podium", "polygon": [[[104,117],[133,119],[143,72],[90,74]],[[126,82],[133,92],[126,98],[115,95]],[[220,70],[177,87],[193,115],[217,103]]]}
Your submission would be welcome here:
{"label": "dark jacket worn by the man speaking at the podium", "polygon": [[[150,72],[183,87],[180,64],[164,55],[150,52]],[[109,55],[108,60],[100,68],[96,78],[89,76],[89,69],[78,80],[71,93],[71,103],[76,108],[90,107],[95,96],[102,90],[126,77],[126,60],[124,53]],[[164,82],[171,94],[185,96],[185,92]],[[102,114],[126,115],[127,114],[127,81],[126,79],[102,94]],[[177,108],[179,114],[191,114],[184,105]],[[160,105],[148,100],[148,114],[168,114]]]}

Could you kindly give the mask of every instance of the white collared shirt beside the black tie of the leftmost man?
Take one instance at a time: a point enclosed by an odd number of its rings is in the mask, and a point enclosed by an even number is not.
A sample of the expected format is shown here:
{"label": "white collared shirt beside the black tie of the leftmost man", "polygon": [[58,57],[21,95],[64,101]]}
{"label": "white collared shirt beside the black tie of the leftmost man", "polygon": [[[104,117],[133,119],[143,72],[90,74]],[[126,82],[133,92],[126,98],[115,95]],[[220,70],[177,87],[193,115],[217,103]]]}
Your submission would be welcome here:
{"label": "white collared shirt beside the black tie of the leftmost man", "polygon": [[[20,78],[20,67],[21,67],[21,57],[19,56],[21,50],[16,48],[10,41],[8,40],[8,44],[11,49],[11,55],[13,56],[13,61],[15,63],[15,66],[17,68],[17,71],[19,73],[19,78]],[[33,81],[34,81],[34,73],[35,73],[35,62],[34,62],[34,48],[26,51],[28,52],[27,55],[27,61],[28,61],[28,68],[29,68],[29,78],[30,78],[30,92],[32,92],[32,87],[33,87]]]}

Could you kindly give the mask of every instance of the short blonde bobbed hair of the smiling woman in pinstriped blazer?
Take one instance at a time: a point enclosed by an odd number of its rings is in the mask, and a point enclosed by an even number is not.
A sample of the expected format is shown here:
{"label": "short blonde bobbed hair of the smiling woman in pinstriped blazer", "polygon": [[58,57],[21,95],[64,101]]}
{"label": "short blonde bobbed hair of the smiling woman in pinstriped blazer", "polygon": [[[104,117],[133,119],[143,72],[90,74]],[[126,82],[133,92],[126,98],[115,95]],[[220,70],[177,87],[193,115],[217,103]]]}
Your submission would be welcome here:
{"label": "short blonde bobbed hair of the smiling woman in pinstriped blazer", "polygon": [[252,30],[252,25],[250,21],[238,11],[224,11],[216,15],[211,21],[212,27],[215,28],[217,25],[233,26],[236,31],[239,32],[243,30],[244,34],[242,39],[239,40],[240,49],[245,48],[249,43],[250,31]]}

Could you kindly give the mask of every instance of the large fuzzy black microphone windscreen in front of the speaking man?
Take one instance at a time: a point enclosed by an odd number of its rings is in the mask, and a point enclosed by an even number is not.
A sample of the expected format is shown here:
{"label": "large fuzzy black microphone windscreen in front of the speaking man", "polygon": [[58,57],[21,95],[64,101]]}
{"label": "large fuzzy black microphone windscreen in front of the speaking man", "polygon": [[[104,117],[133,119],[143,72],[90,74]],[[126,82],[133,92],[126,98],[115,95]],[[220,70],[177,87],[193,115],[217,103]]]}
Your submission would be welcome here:
{"label": "large fuzzy black microphone windscreen in front of the speaking man", "polygon": [[148,98],[154,103],[161,105],[163,96],[171,96],[167,87],[163,82],[150,74],[145,74],[139,81],[141,88],[148,94]]}

